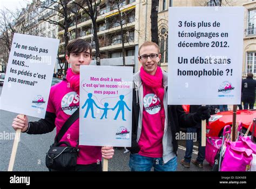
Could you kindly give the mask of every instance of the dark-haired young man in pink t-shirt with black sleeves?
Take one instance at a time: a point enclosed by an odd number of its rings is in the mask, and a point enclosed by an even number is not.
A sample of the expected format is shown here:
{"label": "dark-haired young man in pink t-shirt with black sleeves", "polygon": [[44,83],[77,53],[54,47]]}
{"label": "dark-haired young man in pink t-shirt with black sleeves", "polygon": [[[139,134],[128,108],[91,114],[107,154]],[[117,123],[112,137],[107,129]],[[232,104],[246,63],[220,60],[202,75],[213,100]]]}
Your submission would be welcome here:
{"label": "dark-haired young man in pink t-shirt with black sleeves", "polygon": [[[80,65],[89,65],[92,48],[83,39],[75,39],[66,46],[66,60],[71,64],[63,81],[53,85],[50,90],[49,102],[44,119],[28,122],[28,118],[19,114],[12,123],[15,130],[21,129],[28,134],[43,134],[53,131],[56,135],[69,117],[79,108],[79,73]],[[69,100],[68,100],[69,99]],[[70,102],[72,99],[72,102]],[[72,109],[67,108],[72,106]],[[60,141],[68,141],[75,147],[79,137],[79,119],[65,132]],[[102,157],[111,159],[113,147],[79,146],[77,166],[69,171],[102,171]]]}

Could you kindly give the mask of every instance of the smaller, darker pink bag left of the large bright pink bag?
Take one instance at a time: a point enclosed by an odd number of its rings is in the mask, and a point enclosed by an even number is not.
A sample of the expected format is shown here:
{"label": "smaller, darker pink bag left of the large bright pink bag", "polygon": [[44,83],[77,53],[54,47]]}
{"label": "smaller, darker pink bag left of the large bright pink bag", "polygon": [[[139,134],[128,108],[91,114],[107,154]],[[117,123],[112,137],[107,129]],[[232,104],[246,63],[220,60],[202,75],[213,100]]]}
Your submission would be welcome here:
{"label": "smaller, darker pink bag left of the large bright pink bag", "polygon": [[221,140],[222,139],[220,137],[209,137],[206,140],[205,159],[211,166],[213,166],[214,157],[221,147]]}

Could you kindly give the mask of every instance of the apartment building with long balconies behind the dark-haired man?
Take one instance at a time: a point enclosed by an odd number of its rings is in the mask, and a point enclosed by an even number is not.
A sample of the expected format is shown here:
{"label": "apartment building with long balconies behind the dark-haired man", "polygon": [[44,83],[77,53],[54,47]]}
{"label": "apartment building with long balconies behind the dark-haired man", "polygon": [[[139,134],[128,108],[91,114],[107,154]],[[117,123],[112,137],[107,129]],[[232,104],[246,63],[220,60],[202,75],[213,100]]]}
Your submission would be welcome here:
{"label": "apartment building with long balconies behind the dark-haired man", "polygon": [[[77,12],[77,14],[71,13],[75,19],[69,28],[69,39],[85,39],[95,48],[91,18],[82,9],[79,10],[77,5],[72,4],[71,6],[73,12]],[[134,58],[138,49],[136,31],[139,30],[139,17],[137,7],[136,0],[124,0],[120,1],[120,4],[111,0],[100,2],[96,22],[101,65],[123,65],[122,25],[125,38],[125,64],[138,68],[135,66],[138,61]],[[60,19],[60,22],[64,22],[64,19]],[[64,30],[62,28],[59,28],[58,38],[60,39],[60,58],[64,60]],[[92,53],[95,53],[95,49],[92,50]],[[92,60],[91,64],[96,64],[95,60]]]}

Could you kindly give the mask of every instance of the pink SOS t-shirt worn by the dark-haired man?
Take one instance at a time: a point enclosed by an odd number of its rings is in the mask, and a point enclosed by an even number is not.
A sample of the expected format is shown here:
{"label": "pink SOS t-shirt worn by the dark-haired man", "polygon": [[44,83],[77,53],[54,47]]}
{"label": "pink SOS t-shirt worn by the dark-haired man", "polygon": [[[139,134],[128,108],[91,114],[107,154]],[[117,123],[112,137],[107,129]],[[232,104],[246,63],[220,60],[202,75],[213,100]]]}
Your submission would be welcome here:
{"label": "pink SOS t-shirt worn by the dark-haired man", "polygon": [[[56,114],[56,134],[66,120],[79,108],[79,95],[69,87],[66,80],[53,85],[50,90],[48,112]],[[79,138],[79,118],[69,127],[60,141],[68,141],[71,146],[77,145]],[[78,146],[80,152],[77,157],[77,164],[88,165],[98,163],[102,160],[100,146]]]}

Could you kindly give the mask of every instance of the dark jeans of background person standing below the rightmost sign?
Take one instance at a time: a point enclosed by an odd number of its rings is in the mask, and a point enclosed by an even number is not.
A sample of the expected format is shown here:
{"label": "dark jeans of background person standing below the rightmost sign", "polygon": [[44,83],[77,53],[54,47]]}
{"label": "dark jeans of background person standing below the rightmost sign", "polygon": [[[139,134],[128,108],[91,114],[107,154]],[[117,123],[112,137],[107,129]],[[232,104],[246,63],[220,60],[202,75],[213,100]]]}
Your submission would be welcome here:
{"label": "dark jeans of background person standing below the rightmost sign", "polygon": [[[187,128],[187,133],[197,133],[197,141],[199,142],[198,145],[198,156],[197,161],[200,164],[203,164],[205,159],[205,146],[201,146],[201,128],[189,127]],[[186,152],[184,159],[187,163],[190,163],[191,157],[193,152],[193,139],[186,140]]]}

